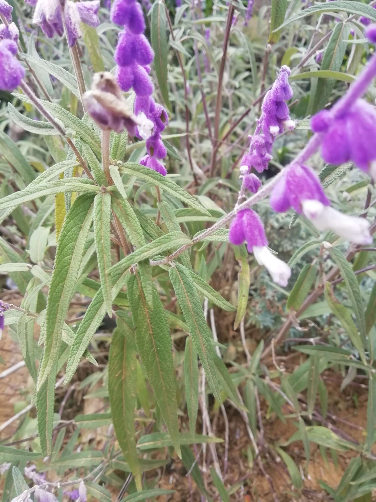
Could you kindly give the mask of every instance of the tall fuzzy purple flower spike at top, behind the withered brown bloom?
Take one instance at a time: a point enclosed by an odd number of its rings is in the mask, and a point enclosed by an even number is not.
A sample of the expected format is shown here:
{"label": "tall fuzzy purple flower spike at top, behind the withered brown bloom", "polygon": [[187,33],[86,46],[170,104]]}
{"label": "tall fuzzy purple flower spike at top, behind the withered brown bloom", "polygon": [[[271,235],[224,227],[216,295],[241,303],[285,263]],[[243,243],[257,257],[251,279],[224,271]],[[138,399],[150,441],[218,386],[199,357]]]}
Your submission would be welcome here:
{"label": "tall fuzzy purple flower spike at top, behind the withered brown bloom", "polygon": [[146,140],[147,150],[140,164],[165,176],[167,171],[159,160],[167,155],[161,132],[168,123],[168,115],[163,106],[156,104],[151,97],[154,86],[149,76],[149,65],[154,59],[154,51],[143,35],[145,22],[142,9],[135,0],[115,0],[111,20],[124,26],[114,56],[116,78],[121,90],[133,88],[136,94],[134,111],[143,124],[138,126],[137,136]]}

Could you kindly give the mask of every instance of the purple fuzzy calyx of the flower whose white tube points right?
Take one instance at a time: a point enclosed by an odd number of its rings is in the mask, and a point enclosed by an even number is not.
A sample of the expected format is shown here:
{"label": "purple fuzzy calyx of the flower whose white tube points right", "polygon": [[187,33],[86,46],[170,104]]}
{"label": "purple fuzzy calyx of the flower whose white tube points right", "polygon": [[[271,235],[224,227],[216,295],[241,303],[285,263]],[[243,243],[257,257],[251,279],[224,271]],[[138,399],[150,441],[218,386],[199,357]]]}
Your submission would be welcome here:
{"label": "purple fuzzy calyx of the flower whose white tube points right", "polygon": [[293,207],[300,214],[303,210],[302,203],[306,200],[318,200],[324,206],[330,205],[316,173],[309,167],[293,164],[284,169],[282,178],[274,186],[270,205],[278,212]]}

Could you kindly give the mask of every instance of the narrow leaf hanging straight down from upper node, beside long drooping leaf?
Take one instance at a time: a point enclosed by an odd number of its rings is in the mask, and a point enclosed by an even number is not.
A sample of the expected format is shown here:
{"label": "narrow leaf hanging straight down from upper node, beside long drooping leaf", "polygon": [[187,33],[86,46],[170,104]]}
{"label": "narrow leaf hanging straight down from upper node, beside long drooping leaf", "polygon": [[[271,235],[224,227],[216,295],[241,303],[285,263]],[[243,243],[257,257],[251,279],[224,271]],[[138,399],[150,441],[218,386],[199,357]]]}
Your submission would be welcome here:
{"label": "narrow leaf hanging straight down from upper node, beside long drooping leaf", "polygon": [[94,199],[94,239],[97,250],[99,277],[107,313],[112,317],[111,298],[111,195],[108,192],[98,193]]}

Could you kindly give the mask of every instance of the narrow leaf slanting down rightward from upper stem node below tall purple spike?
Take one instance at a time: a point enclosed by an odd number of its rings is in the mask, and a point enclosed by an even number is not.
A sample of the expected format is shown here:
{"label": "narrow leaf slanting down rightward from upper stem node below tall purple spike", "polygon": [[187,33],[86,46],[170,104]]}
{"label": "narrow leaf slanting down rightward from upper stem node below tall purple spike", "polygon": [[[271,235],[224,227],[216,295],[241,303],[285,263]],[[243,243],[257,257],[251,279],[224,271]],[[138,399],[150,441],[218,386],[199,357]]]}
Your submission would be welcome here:
{"label": "narrow leaf slanting down rightward from upper stem node below tall purple spike", "polygon": [[153,171],[148,167],[141,166],[134,162],[127,162],[121,166],[121,171],[129,176],[137,176],[137,178],[141,178],[144,181],[148,181],[153,185],[158,186],[165,192],[173,195],[177,199],[184,202],[187,206],[192,207],[193,209],[197,209],[203,214],[207,216],[211,216],[210,212],[207,211],[191,194],[189,194],[186,190],[183,190],[179,185],[177,185],[171,179],[162,176],[161,174]]}

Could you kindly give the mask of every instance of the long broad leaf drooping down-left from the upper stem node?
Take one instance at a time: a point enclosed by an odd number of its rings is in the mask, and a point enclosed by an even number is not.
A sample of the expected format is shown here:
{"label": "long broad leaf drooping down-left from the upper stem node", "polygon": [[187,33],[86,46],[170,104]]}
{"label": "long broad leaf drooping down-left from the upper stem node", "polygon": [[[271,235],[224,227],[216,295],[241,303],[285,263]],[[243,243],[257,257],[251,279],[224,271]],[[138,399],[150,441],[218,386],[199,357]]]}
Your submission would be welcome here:
{"label": "long broad leaf drooping down-left from the upper stem node", "polygon": [[46,342],[37,389],[41,388],[58,356],[64,319],[75,292],[84,246],[93,219],[92,207],[92,194],[78,197],[68,212],[60,233],[47,297]]}

